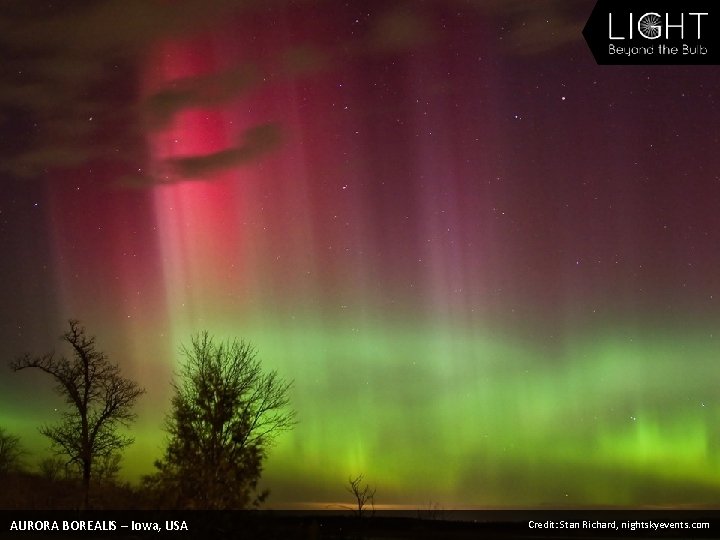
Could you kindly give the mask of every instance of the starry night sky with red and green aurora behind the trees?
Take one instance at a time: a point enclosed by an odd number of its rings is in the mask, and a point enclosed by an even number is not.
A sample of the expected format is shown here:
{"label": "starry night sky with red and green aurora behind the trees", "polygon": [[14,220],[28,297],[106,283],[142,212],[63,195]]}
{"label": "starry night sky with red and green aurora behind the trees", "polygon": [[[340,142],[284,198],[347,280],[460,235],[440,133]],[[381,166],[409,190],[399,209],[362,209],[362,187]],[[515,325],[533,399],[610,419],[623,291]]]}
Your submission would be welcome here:
{"label": "starry night sky with red and green aurora behind the trees", "polygon": [[[269,506],[717,504],[720,71],[597,66],[592,7],[3,2],[2,356],[80,319],[129,479],[207,329],[295,381]],[[30,461],[57,407],[0,375]]]}

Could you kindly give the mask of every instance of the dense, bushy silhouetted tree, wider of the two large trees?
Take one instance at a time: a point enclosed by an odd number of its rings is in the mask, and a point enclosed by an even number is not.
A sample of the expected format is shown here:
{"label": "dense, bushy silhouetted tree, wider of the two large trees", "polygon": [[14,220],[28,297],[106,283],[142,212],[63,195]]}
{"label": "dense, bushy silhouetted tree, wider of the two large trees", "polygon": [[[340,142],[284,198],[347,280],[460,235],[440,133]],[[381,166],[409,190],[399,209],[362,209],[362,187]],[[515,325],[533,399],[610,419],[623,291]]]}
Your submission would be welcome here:
{"label": "dense, bushy silhouetted tree, wider of the two large trees", "polygon": [[[173,507],[226,509],[257,505],[262,460],[277,434],[295,424],[292,383],[264,373],[245,341],[215,342],[207,332],[183,346],[173,383],[170,438],[146,486]],[[162,504],[162,503],[161,503]]]}

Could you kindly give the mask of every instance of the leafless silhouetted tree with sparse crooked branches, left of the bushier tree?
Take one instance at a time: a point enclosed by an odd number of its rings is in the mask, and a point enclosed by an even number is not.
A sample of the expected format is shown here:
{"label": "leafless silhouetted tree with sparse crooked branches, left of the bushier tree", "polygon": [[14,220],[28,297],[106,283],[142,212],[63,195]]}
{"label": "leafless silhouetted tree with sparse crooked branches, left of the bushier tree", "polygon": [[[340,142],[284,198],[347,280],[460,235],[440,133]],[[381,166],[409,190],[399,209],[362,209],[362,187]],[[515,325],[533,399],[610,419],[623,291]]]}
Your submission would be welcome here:
{"label": "leafless silhouetted tree with sparse crooked branches, left of the bushier tree", "polygon": [[72,347],[71,359],[56,358],[54,353],[37,358],[26,354],[11,367],[15,371],[37,368],[55,379],[55,389],[69,407],[59,424],[45,425],[40,432],[59,454],[69,458],[69,465],[80,469],[87,507],[90,479],[98,467],[115,460],[113,456],[133,442],[118,428],[135,419],[133,407],[145,390],[122,377],[119,366],[96,350],[95,338],[85,335],[79,321],[70,320],[69,325],[62,340]]}

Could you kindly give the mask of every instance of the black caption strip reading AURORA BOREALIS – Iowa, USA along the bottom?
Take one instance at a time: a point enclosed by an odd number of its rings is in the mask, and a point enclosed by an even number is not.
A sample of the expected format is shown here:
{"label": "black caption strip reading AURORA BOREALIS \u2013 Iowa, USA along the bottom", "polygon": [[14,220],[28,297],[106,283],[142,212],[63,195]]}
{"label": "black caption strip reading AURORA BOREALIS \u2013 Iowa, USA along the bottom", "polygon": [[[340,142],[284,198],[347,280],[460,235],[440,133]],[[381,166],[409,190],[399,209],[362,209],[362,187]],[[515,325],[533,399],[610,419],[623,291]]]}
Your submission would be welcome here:
{"label": "black caption strip reading AURORA BOREALIS \u2013 Iowa, USA along the bottom", "polygon": [[720,538],[719,511],[0,511],[0,538]]}

